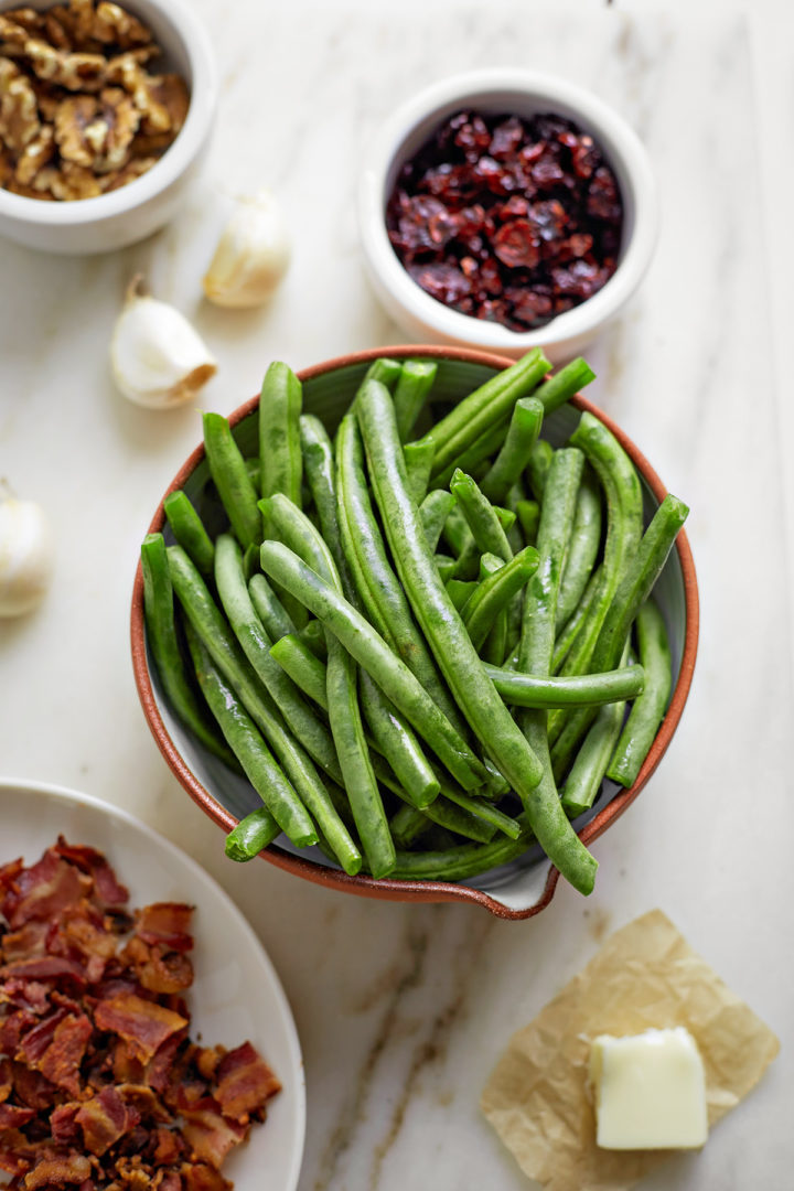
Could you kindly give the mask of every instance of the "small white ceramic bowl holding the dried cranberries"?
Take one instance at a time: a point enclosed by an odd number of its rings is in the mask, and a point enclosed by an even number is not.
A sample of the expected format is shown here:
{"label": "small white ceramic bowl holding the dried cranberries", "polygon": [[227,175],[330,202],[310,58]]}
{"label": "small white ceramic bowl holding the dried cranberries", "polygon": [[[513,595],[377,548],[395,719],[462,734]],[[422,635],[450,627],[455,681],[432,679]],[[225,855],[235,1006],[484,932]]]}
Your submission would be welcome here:
{"label": "small white ceramic bowl holding the dried cranberries", "polygon": [[[568,117],[604,150],[620,186],[624,226],[618,268],[592,298],[534,331],[512,331],[461,314],[431,298],[407,273],[388,238],[386,204],[401,166],[446,117],[467,108],[486,114],[554,112]],[[558,363],[577,355],[632,295],[654,254],[658,217],[648,154],[617,112],[565,79],[494,68],[434,83],[385,123],[361,174],[358,223],[373,288],[412,339],[488,348],[513,357],[542,347],[552,363]]]}

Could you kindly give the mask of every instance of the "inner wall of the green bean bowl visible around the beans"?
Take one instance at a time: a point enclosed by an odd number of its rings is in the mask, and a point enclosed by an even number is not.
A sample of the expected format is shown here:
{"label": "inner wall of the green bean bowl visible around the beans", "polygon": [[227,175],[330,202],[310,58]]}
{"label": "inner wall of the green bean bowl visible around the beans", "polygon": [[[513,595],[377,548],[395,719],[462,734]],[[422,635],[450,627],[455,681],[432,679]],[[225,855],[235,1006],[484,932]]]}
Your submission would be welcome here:
{"label": "inner wall of the green bean bowl visible around the beans", "polygon": [[[457,360],[439,360],[438,373],[433,385],[432,399],[443,401],[459,399],[465,393],[476,388],[493,375],[493,369],[482,364],[463,362]],[[306,412],[317,413],[330,430],[333,430],[346,409],[357,385],[363,379],[367,370],[365,363],[350,364],[339,368],[333,373],[315,376],[304,385],[304,409]],[[579,422],[579,412],[573,406],[563,406],[556,410],[544,422],[544,437],[548,437],[554,447],[562,445],[573,432]],[[243,419],[235,428],[235,437],[244,455],[254,455],[257,451],[257,414],[254,413]],[[199,515],[205,520],[211,534],[220,530],[225,525],[223,513],[219,513],[217,501],[208,494],[210,472],[206,460],[189,476],[185,485],[185,491],[195,505]],[[650,520],[657,507],[657,501],[645,484],[644,504],[645,519]],[[168,526],[164,529],[165,540],[173,542],[174,538]],[[683,576],[677,553],[673,550],[668,562],[656,585],[655,597],[664,615],[668,632],[670,636],[670,649],[673,654],[673,685],[679,676],[681,659],[683,655],[686,605]],[[257,793],[245,778],[230,771],[223,761],[214,757],[204,746],[195,740],[182,724],[170,713],[165,703],[162,687],[160,685],[151,656],[148,653],[149,673],[151,675],[152,690],[157,706],[163,717],[168,732],[182,754],[189,769],[195,774],[201,785],[207,790],[226,810],[237,818],[242,818],[255,810],[260,803]],[[592,807],[575,821],[577,829],[581,829],[595,815],[598,815],[623,787],[615,782],[605,781],[601,793]],[[319,848],[295,848],[286,836],[280,836],[277,846],[293,855],[314,861],[325,867],[338,867],[333,865]],[[504,865],[500,868],[490,869],[487,873],[473,878],[461,884],[489,893],[494,900],[511,910],[525,910],[536,905],[543,896],[546,877],[549,873],[549,861],[540,847],[532,846],[523,856]]]}

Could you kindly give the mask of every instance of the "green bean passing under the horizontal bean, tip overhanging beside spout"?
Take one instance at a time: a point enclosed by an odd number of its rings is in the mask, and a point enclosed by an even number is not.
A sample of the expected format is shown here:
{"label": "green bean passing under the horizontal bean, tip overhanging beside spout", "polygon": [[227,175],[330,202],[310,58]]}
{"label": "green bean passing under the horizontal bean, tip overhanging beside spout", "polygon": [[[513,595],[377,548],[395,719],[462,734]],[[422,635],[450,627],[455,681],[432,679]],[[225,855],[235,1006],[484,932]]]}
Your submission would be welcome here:
{"label": "green bean passing under the horizontal bean, tip overhanging beside spout", "polygon": [[[548,678],[550,673],[559,576],[583,462],[579,450],[558,450],[549,468],[546,499],[538,528],[539,563],[524,600],[518,665],[527,674]],[[546,715],[543,710],[524,710],[520,713],[520,727],[543,766],[538,787],[523,802],[546,855],[563,875],[567,875],[567,869],[573,871],[576,877],[573,884],[580,892],[590,892],[598,863],[574,833],[559,804],[549,756]]]}

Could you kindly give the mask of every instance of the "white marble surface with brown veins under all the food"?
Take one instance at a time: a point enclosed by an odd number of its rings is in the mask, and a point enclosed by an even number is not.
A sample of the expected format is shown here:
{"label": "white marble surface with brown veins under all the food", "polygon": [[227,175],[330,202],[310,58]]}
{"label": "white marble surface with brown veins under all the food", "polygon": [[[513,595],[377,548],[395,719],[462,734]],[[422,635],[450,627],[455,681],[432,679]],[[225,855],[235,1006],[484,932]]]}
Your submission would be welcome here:
{"label": "white marble surface with brown veins under all the food", "polygon": [[[526,1186],[479,1115],[480,1089],[509,1034],[604,934],[656,905],[779,1033],[783,1050],[702,1154],[673,1159],[644,1186],[782,1191],[794,1158],[792,488],[783,455],[792,414],[774,338],[777,331],[787,342],[792,313],[792,249],[783,243],[789,6],[196,7],[224,85],[190,210],[146,244],[95,260],[0,244],[0,474],[46,506],[57,535],[45,604],[0,625],[0,771],[133,810],[201,860],[250,917],[282,975],[305,1050],[301,1191]],[[526,923],[358,900],[263,863],[225,861],[219,833],[149,735],[127,643],[138,543],[198,442],[199,418],[127,405],[106,358],[138,269],[217,351],[206,409],[232,410],[274,357],[300,367],[398,342],[362,276],[357,149],[404,95],[480,63],[577,77],[625,112],[652,155],[659,250],[630,312],[589,353],[599,373],[592,394],[690,504],[702,600],[689,705],[648,790],[595,844],[596,892],[584,902],[561,888]],[[199,279],[224,193],[262,183],[290,213],[293,269],[268,311],[210,308]]]}

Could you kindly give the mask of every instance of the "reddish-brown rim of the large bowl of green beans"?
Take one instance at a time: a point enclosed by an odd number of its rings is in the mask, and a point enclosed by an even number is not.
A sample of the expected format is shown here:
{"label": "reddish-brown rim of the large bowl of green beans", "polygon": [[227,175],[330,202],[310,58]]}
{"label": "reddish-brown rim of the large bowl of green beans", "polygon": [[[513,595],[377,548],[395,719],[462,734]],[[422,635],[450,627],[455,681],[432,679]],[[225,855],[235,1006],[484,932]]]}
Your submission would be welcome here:
{"label": "reddish-brown rim of the large bowl of green beans", "polygon": [[[514,361],[508,357],[499,356],[493,353],[479,351],[473,348],[454,348],[430,344],[400,344],[386,348],[367,348],[362,351],[354,351],[343,356],[336,356],[332,360],[324,361],[323,363],[302,368],[296,375],[302,384],[313,380],[317,376],[325,375],[326,373],[336,372],[339,368],[354,364],[369,364],[374,360],[379,358],[379,356],[383,355],[395,358],[423,356],[436,360],[458,360],[465,363],[483,364],[498,370],[509,368],[509,366],[514,363]],[[249,414],[254,413],[257,409],[258,403],[260,397],[257,394],[243,405],[239,405],[232,411],[232,413],[229,414],[230,424],[235,426],[238,422],[249,417]],[[604,423],[605,426],[607,426],[608,430],[612,431],[650,487],[655,499],[661,504],[668,494],[668,490],[664,487],[662,480],[654,470],[645,455],[634,445],[631,438],[629,438],[629,436],[606,413],[604,413],[602,410],[600,410],[596,405],[593,405],[592,401],[588,401],[581,394],[577,393],[574,398],[571,398],[570,404],[582,412],[587,411],[594,414],[594,417],[596,417]],[[163,493],[163,498],[161,499],[157,511],[151,519],[148,532],[155,534],[163,529],[165,523],[163,500],[170,492],[174,492],[176,488],[183,486],[187,478],[193,473],[204,457],[204,444],[199,444],[182,463],[173,481],[168,486],[168,490]],[[651,775],[655,773],[659,761],[670,744],[670,741],[673,740],[673,735],[679,725],[679,721],[681,719],[681,715],[689,694],[698,655],[700,605],[694,559],[692,556],[689,540],[684,530],[679,532],[674,548],[677,550],[679,562],[681,565],[686,610],[686,630],[679,678],[673,691],[667,713],[662,721],[662,725],[654,738],[654,743],[651,744],[650,752],[645,757],[642,769],[639,771],[637,780],[630,788],[617,793],[614,798],[577,833],[582,843],[586,844],[598,840],[598,837],[602,835],[604,831],[606,831],[606,829],[611,827],[611,824],[619,818],[629,806],[631,806]],[[160,715],[160,709],[151,686],[149,667],[146,665],[146,643],[143,612],[143,572],[140,560],[138,560],[136,567],[132,588],[130,637],[132,649],[132,668],[138,697],[151,734],[155,737],[161,753],[165,757],[165,761],[168,762],[174,775],[196,805],[199,805],[201,810],[204,810],[205,813],[218,824],[218,827],[223,828],[225,833],[231,831],[239,821],[235,818],[230,811],[221,806],[221,804],[205,788],[193,771],[187,766],[185,759],[171,740],[168,729],[163,723],[162,716]],[[408,881],[389,877],[379,879],[367,875],[349,877],[342,869],[318,865],[313,860],[307,860],[302,856],[296,856],[293,853],[286,852],[276,844],[270,844],[270,847],[260,853],[260,856],[263,860],[276,865],[279,868],[283,868],[298,877],[311,880],[317,885],[323,885],[326,888],[333,888],[346,893],[356,893],[362,897],[370,897],[388,902],[469,902],[475,905],[483,906],[499,918],[509,919],[530,918],[536,913],[539,913],[540,910],[544,910],[554,897],[557,887],[557,880],[559,878],[558,869],[551,866],[539,900],[529,908],[514,910],[506,906],[489,893],[486,893],[482,890],[473,888],[468,885],[459,885],[450,881]]]}

